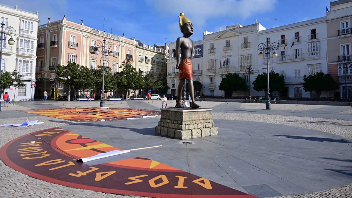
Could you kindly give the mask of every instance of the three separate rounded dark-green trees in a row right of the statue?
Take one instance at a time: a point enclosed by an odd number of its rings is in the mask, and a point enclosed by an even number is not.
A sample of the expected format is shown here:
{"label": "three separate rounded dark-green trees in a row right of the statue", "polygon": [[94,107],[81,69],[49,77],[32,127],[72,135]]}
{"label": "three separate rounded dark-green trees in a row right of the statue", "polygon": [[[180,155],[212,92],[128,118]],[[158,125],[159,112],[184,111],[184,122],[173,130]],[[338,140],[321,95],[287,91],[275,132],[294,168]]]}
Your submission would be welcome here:
{"label": "three separate rounded dark-green trees in a row right of the statue", "polygon": [[[256,76],[252,82],[253,89],[257,92],[266,91],[268,87],[267,74],[262,73]],[[270,92],[282,91],[285,85],[285,77],[274,71],[269,73],[269,89]],[[304,79],[303,89],[308,92],[315,92],[319,97],[323,91],[331,91],[338,88],[336,81],[331,74],[318,72],[309,75]],[[230,96],[234,91],[245,91],[248,89],[244,78],[238,74],[226,74],[220,82],[219,89],[225,91],[225,95]]]}

